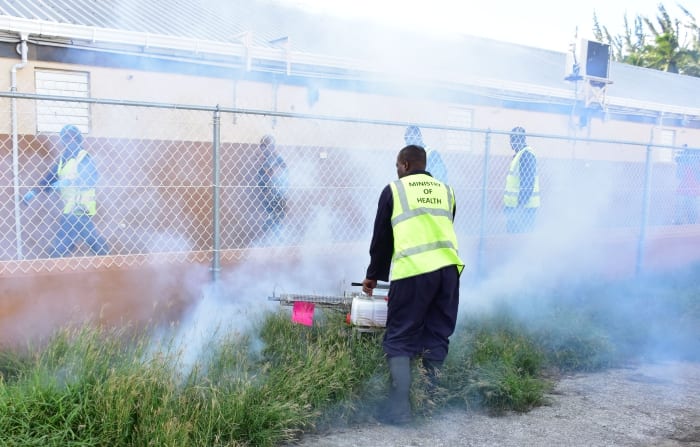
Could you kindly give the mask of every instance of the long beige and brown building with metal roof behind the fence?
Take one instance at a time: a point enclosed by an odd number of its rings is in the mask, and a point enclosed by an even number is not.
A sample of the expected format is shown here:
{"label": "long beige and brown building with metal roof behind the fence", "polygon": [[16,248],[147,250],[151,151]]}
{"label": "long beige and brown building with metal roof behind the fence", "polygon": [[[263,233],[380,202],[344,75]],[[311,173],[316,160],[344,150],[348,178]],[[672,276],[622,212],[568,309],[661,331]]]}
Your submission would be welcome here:
{"label": "long beige and brown building with metal roof behind the fence", "polygon": [[[601,270],[626,274],[663,265],[649,253],[694,259],[669,251],[688,232],[674,229],[656,246],[646,225],[668,223],[674,150],[700,147],[700,79],[589,58],[587,41],[567,55],[389,31],[265,1],[0,0],[9,87],[0,93],[0,318],[15,322],[0,324],[5,335],[18,336],[37,306],[56,322],[74,308],[77,318],[106,321],[147,318],[154,302],[178,309],[219,258],[231,266],[268,249],[254,203],[264,134],[275,135],[290,169],[282,245],[291,259],[309,249],[364,259],[376,196],[395,175],[410,123],[450,166],[469,265],[498,266],[517,244],[501,234],[500,215],[516,125],[537,149],[545,204],[600,192],[571,213],[543,205],[547,222],[580,214],[596,231],[614,230],[587,242],[609,248],[581,262],[603,259]],[[56,200],[47,193],[21,204],[58,156],[56,133],[68,123],[101,168],[97,225],[110,256],[78,247],[48,259]],[[542,262],[556,265],[555,255]],[[76,288],[76,278],[91,286]],[[54,295],[74,302],[42,301]]]}

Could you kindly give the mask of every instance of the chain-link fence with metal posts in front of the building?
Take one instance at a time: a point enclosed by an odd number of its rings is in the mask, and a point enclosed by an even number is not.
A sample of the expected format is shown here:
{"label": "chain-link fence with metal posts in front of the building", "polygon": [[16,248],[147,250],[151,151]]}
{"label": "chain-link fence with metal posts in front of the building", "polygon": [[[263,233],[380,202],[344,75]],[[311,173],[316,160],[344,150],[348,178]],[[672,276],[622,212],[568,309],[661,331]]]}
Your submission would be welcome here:
{"label": "chain-link fence with metal posts in front of the building", "polygon": [[[377,199],[396,178],[396,154],[408,124],[1,96],[0,261],[6,270],[24,272],[53,268],[64,213],[59,191],[40,185],[62,149],[58,134],[36,132],[37,101],[90,107],[90,122],[72,124],[83,130],[84,149],[100,174],[92,220],[109,256],[96,256],[76,240],[68,256],[79,259],[78,267],[128,266],[154,256],[216,264],[220,257],[268,246],[368,246]],[[57,124],[70,123],[61,119]],[[505,234],[509,130],[421,128],[455,189],[458,236]],[[261,147],[266,135],[274,139],[269,152]],[[678,215],[678,148],[555,135],[526,139],[539,177],[537,229],[567,228],[582,240],[591,230],[643,237],[647,225],[671,224]],[[41,192],[25,203],[30,189]]]}

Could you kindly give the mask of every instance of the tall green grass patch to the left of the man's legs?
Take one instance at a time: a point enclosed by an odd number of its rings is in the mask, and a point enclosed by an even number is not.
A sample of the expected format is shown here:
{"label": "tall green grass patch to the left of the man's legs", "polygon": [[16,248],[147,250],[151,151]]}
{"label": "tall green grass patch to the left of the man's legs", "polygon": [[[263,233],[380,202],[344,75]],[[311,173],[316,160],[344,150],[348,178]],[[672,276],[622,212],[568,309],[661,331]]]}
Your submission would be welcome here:
{"label": "tall green grass patch to the left of the man's legs", "polygon": [[67,329],[40,350],[1,357],[0,433],[8,446],[272,446],[298,438],[382,365],[377,335],[341,319],[312,328],[285,312],[260,333],[208,343],[183,370],[177,346],[146,333]]}

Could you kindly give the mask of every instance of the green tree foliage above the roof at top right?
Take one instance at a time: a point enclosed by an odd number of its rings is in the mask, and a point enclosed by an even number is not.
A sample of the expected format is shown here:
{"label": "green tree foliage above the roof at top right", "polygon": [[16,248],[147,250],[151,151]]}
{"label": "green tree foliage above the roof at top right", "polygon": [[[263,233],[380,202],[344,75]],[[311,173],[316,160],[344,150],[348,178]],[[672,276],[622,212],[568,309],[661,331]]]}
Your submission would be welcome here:
{"label": "green tree foliage above the roof at top right", "polygon": [[645,68],[700,77],[700,26],[695,16],[678,5],[682,18],[673,18],[663,4],[656,17],[624,17],[623,34],[613,35],[593,13],[593,35],[610,45],[613,60]]}

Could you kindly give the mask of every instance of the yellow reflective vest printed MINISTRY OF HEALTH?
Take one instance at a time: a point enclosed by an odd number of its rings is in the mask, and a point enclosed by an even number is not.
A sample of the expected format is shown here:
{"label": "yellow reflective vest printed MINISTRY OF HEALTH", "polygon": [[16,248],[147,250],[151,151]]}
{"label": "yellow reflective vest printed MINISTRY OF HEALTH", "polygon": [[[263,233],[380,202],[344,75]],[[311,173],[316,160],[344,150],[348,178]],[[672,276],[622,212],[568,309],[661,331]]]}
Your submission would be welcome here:
{"label": "yellow reflective vest printed MINISTRY OF HEALTH", "polygon": [[433,272],[448,265],[461,273],[452,224],[454,191],[426,174],[406,176],[391,183],[394,209],[391,226],[394,255],[391,279]]}

